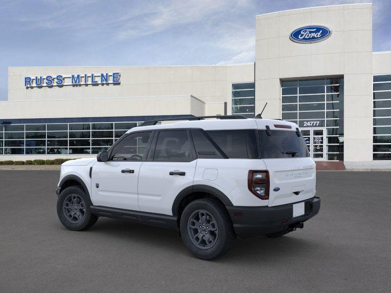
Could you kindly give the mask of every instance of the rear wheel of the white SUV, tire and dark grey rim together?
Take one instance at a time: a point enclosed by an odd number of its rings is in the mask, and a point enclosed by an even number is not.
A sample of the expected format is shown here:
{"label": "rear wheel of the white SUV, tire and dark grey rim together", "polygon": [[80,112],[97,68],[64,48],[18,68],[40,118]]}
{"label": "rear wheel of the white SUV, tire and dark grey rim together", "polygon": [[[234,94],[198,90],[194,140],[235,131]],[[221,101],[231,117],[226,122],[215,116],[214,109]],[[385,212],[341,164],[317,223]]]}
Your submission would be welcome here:
{"label": "rear wheel of the white SUV, tire and dark grey rim together", "polygon": [[180,232],[187,249],[204,260],[226,253],[236,237],[227,210],[210,198],[186,206],[180,218]]}

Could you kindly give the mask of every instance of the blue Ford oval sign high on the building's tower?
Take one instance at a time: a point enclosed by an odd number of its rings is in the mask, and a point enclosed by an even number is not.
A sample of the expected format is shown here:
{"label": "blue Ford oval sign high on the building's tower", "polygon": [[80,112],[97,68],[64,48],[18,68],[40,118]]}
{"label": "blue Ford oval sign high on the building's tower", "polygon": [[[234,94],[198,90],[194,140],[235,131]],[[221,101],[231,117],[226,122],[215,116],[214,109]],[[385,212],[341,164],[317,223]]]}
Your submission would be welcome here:
{"label": "blue Ford oval sign high on the building's tower", "polygon": [[308,25],[291,32],[289,39],[299,43],[321,42],[331,36],[331,29],[322,25]]}

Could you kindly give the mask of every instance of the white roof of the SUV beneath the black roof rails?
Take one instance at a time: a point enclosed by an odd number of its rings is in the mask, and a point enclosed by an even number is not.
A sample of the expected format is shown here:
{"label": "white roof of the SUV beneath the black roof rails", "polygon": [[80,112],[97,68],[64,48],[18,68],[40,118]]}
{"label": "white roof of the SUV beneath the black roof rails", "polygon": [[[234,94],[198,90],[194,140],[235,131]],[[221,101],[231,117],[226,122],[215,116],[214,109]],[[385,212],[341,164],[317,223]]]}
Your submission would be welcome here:
{"label": "white roof of the SUV beneath the black roof rails", "polygon": [[[173,121],[174,122],[174,121]],[[220,129],[266,129],[266,125],[270,129],[288,128],[275,127],[274,125],[291,126],[291,130],[296,130],[298,127],[295,123],[272,120],[272,119],[215,119],[215,120],[185,120],[177,121],[170,124],[152,125],[152,126],[138,126],[131,128],[128,132],[140,130],[154,130],[154,129],[170,129],[170,128],[202,128],[205,130],[220,130]]]}

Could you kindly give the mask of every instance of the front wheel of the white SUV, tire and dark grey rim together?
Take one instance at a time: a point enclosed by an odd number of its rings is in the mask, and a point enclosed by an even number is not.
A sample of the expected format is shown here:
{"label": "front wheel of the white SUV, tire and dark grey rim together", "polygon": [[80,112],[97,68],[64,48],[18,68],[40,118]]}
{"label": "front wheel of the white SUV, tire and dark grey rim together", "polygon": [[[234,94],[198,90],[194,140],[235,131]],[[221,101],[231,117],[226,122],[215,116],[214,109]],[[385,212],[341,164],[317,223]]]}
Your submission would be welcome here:
{"label": "front wheel of the white SUV, tire and dark grey rim together", "polygon": [[83,188],[70,186],[61,191],[57,199],[57,215],[68,230],[81,231],[90,228],[98,217],[90,211],[91,201]]}

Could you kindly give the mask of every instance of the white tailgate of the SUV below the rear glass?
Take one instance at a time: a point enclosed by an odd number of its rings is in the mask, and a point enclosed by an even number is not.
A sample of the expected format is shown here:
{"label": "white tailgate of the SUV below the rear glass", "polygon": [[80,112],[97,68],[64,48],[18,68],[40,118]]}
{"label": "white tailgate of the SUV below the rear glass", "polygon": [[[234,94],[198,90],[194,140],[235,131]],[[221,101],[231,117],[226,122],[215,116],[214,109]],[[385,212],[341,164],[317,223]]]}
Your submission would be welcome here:
{"label": "white tailgate of the SUV below the rear glass", "polygon": [[[299,202],[315,196],[316,165],[311,158],[263,161],[269,170],[269,207]],[[280,189],[274,191],[275,188]]]}

